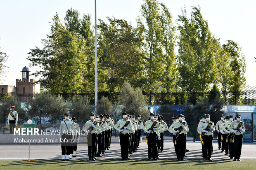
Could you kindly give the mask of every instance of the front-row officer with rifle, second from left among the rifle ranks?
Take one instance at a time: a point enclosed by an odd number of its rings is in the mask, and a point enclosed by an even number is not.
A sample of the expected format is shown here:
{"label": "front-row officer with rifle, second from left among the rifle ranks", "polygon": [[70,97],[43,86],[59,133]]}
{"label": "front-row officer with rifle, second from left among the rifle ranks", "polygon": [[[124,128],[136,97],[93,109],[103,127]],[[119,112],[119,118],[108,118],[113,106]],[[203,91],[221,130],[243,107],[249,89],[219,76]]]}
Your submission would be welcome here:
{"label": "front-row officer with rifle, second from left among the rifle ranks", "polygon": [[129,130],[132,129],[132,124],[127,119],[126,112],[122,113],[123,119],[119,120],[114,128],[120,132],[120,147],[121,147],[121,156],[123,161],[128,160],[129,154]]}

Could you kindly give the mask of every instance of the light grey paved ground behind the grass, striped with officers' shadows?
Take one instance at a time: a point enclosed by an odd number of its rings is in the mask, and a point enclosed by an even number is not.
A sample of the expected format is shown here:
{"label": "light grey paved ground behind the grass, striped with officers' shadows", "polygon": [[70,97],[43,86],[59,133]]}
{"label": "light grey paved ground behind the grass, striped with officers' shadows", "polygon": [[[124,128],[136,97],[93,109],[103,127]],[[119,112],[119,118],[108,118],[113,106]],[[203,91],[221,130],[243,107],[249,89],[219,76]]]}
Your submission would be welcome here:
{"label": "light grey paved ground behind the grass, striped with officers' shadows", "polygon": [[[27,159],[28,145],[8,145],[1,144],[0,159]],[[31,145],[30,158],[31,159],[49,159],[61,158],[61,147],[59,144],[33,144]],[[201,157],[201,143],[187,142],[187,158],[199,159]],[[218,143],[213,142],[212,158],[227,158],[225,152],[218,150]],[[102,155],[102,159],[106,158],[121,158],[120,144],[112,143],[110,151]],[[164,152],[159,152],[160,158],[175,158],[174,144],[170,140],[164,141]],[[88,158],[87,144],[78,144],[78,154],[76,158]],[[131,155],[131,158],[147,158],[147,143],[142,140],[137,153]],[[256,144],[244,143],[242,146],[241,159],[253,158],[256,159]]]}

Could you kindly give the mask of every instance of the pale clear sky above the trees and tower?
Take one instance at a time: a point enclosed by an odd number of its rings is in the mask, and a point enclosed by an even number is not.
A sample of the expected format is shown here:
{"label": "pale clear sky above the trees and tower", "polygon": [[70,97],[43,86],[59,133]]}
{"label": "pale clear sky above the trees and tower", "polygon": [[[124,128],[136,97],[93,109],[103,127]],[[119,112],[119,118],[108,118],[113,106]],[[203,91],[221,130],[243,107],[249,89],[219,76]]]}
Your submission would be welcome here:
{"label": "pale clear sky above the trees and tower", "polygon": [[[159,0],[171,12],[173,21],[186,6],[190,15],[191,6],[200,6],[201,13],[209,23],[211,32],[220,38],[234,40],[240,47],[247,63],[247,85],[256,85],[256,1],[255,0]],[[97,0],[97,19],[106,21],[106,17],[114,16],[126,19],[136,26],[136,18],[140,14],[143,0]],[[0,0],[0,47],[9,56],[5,71],[6,77],[0,84],[15,85],[15,79],[21,79],[21,70],[29,65],[29,49],[42,47],[41,39],[50,32],[50,25],[55,13],[63,21],[66,10],[72,7],[83,13],[92,15],[94,23],[94,0]],[[34,72],[36,68],[29,68]],[[30,77],[35,78],[35,77]],[[37,90],[40,88],[36,86]]]}

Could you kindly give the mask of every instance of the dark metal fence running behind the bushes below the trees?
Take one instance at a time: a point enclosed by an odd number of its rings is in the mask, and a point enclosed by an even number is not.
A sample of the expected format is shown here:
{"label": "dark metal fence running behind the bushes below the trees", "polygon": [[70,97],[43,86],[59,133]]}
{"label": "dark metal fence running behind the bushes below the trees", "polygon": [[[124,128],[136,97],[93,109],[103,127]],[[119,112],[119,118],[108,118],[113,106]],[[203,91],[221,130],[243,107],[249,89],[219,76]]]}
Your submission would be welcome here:
{"label": "dark metal fence running behind the bushes below the trees", "polygon": [[[17,94],[17,93],[0,93],[0,99],[7,96],[17,96],[21,102],[27,102],[34,98],[36,94]],[[56,93],[62,95],[66,100],[76,100],[81,96],[88,96],[90,103],[94,104],[94,93]],[[98,92],[98,98],[108,97],[109,100],[116,104],[119,93]],[[143,92],[147,105],[184,105],[185,102],[195,104],[199,98],[208,98],[213,100],[216,96],[223,99],[225,105],[256,105],[256,91],[230,91],[230,92],[172,92],[156,93]]]}

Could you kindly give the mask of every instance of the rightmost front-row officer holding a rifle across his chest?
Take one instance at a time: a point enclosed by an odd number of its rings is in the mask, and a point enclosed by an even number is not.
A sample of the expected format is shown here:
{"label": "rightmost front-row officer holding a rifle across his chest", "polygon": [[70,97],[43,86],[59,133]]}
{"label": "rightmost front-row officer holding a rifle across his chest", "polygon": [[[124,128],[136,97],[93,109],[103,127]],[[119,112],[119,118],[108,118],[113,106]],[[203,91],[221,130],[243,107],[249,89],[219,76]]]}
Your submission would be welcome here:
{"label": "rightmost front-row officer holding a rifle across his chest", "polygon": [[230,127],[228,128],[232,133],[235,133],[233,135],[234,137],[234,145],[235,145],[235,157],[233,161],[241,161],[241,150],[242,150],[242,144],[243,144],[243,133],[245,132],[244,128],[244,122],[241,121],[241,115],[237,114],[236,120],[232,121]]}

